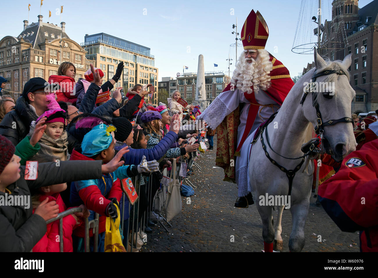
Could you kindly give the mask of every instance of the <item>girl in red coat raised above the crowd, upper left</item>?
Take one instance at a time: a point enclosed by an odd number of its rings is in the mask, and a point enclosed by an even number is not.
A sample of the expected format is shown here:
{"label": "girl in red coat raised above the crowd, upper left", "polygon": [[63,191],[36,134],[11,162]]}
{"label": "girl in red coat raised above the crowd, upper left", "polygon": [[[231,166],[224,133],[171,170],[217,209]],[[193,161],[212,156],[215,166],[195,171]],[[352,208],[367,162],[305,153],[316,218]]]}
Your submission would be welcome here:
{"label": "girl in red coat raised above the crowd, upper left", "polygon": [[60,89],[55,91],[57,96],[57,101],[69,102],[75,104],[77,100],[76,93],[74,92],[75,87],[75,75],[76,68],[74,64],[70,62],[63,62],[58,68],[58,75],[50,75],[48,82],[50,84],[59,84]]}

